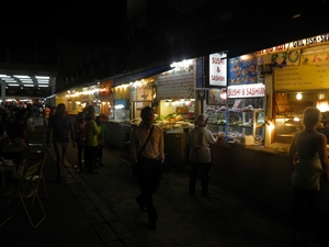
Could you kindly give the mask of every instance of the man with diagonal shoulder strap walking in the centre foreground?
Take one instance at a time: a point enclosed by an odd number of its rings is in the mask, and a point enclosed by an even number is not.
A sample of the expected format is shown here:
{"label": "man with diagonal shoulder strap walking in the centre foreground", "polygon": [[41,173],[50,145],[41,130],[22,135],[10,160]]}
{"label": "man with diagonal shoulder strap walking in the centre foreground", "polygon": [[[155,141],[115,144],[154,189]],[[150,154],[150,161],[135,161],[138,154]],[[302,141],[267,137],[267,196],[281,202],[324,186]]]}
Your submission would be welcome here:
{"label": "man with diagonal shoulder strap walking in the centre foreground", "polygon": [[146,106],[140,112],[141,123],[133,130],[131,136],[131,155],[134,173],[137,176],[140,195],[136,198],[140,211],[148,213],[148,228],[156,229],[158,213],[155,209],[152,194],[158,189],[161,170],[157,159],[164,160],[163,132],[154,125],[155,112]]}

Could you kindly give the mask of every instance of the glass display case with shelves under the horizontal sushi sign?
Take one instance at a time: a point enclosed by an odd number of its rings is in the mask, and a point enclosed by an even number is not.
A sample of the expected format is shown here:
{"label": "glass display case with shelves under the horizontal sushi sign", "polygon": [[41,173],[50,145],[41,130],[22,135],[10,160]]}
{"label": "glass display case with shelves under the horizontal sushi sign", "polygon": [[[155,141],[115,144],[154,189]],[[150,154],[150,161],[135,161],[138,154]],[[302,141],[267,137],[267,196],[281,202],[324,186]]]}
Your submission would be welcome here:
{"label": "glass display case with shelves under the horizontal sushi sign", "polygon": [[226,137],[228,142],[245,145],[263,145],[265,134],[262,109],[229,109]]}

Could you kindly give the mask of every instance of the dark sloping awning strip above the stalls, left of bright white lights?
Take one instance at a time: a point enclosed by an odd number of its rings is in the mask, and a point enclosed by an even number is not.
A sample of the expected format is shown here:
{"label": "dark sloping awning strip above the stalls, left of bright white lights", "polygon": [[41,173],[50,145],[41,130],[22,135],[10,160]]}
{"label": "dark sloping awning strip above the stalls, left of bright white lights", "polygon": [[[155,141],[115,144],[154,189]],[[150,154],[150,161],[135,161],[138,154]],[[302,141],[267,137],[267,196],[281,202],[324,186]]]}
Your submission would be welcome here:
{"label": "dark sloping awning strip above the stalls, left of bright white lights", "polygon": [[133,82],[133,81],[136,81],[136,80],[141,80],[144,78],[148,78],[148,77],[168,71],[170,69],[172,69],[170,67],[170,65],[164,65],[164,66],[160,66],[160,67],[156,67],[156,68],[150,68],[150,69],[147,69],[147,70],[144,69],[141,71],[131,72],[131,74],[114,78],[113,79],[113,86],[116,87],[116,86],[124,85],[124,83],[129,83],[129,82]]}

